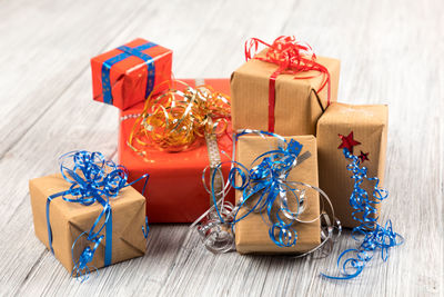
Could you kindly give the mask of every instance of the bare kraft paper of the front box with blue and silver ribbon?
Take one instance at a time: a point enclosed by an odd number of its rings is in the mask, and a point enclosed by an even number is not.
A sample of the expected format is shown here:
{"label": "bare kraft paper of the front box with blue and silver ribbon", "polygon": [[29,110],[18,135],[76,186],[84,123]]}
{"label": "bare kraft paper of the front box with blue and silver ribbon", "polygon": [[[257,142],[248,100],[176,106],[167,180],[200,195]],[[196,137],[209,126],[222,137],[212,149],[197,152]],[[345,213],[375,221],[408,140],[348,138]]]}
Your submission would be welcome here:
{"label": "bare kraft paper of the front box with blue and silver ribbon", "polygon": [[[285,137],[286,140],[294,139],[303,145],[301,154],[311,152],[311,157],[297,165],[290,171],[289,181],[302,181],[317,187],[317,156],[316,139],[314,136]],[[246,166],[249,169],[252,161],[271,149],[278,148],[278,139],[260,136],[243,136],[238,140],[236,161]],[[240,185],[240,180],[236,180]],[[236,202],[239,202],[242,191],[236,191]],[[300,215],[303,220],[310,220],[320,216],[320,198],[316,191],[306,192],[306,209]],[[289,204],[290,208],[292,205]],[[294,206],[294,205],[293,205]],[[242,209],[239,217],[245,214]],[[266,216],[266,215],[265,215]],[[279,247],[269,236],[269,226],[262,220],[260,214],[250,214],[235,224],[235,246],[240,254],[296,254],[307,251],[321,242],[320,221],[310,224],[295,222],[293,225],[297,231],[297,241],[292,247]]]}

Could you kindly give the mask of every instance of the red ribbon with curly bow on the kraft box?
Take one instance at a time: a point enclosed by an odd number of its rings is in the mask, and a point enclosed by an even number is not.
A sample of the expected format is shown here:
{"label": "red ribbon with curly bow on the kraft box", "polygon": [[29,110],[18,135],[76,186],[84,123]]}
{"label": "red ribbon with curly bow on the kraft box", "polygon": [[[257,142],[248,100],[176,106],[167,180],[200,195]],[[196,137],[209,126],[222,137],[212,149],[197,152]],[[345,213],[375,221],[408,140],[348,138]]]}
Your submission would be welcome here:
{"label": "red ribbon with curly bow on the kraft box", "polygon": [[[269,48],[265,57],[258,57],[258,47],[263,44]],[[251,38],[245,42],[245,59],[258,59],[279,66],[270,77],[269,83],[269,131],[274,132],[274,108],[275,108],[275,86],[280,75],[296,75],[299,72],[314,70],[324,77],[317,92],[327,87],[326,106],[330,106],[330,73],[329,70],[317,63],[316,55],[305,42],[297,41],[294,36],[278,37],[272,44],[258,38]],[[316,76],[295,77],[294,79],[311,79]]]}

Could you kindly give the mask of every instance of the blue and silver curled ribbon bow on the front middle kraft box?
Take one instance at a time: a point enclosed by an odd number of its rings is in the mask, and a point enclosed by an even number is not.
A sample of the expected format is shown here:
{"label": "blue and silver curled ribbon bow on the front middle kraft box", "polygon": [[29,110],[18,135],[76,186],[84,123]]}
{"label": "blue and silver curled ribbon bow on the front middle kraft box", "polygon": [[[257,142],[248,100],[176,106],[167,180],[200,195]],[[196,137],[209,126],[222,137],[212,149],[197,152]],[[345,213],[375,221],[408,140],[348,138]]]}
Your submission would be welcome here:
{"label": "blue and silver curled ribbon bow on the front middle kraft box", "polygon": [[[216,175],[222,175],[219,164],[216,170],[211,176],[211,187],[206,186],[205,170],[202,179],[205,189],[211,194],[213,206],[201,216],[191,227],[198,226],[198,231],[205,247],[212,253],[225,253],[234,248],[234,226],[250,214],[260,214],[263,221],[269,226],[269,236],[271,240],[280,247],[291,247],[297,242],[297,232],[294,228],[295,222],[313,222],[321,220],[322,224],[322,244],[316,248],[301,256],[311,254],[327,241],[333,241],[341,234],[341,224],[334,218],[333,207],[325,195],[317,187],[299,182],[287,181],[286,178],[297,164],[310,157],[310,152],[301,155],[302,145],[297,141],[286,141],[283,137],[259,130],[241,130],[234,136],[239,137],[248,133],[255,133],[265,139],[265,136],[275,137],[280,140],[278,149],[271,148],[270,151],[260,155],[254,159],[249,170],[244,165],[230,161],[231,169],[228,181],[219,192],[214,191]],[[233,141],[234,152],[235,141]],[[233,154],[234,156],[234,154]],[[235,180],[241,182],[236,185]],[[242,197],[236,206],[225,201],[224,198],[234,188],[242,191]],[[316,217],[307,220],[301,219],[306,204],[306,190],[312,189],[321,194],[327,201],[332,217],[324,211]],[[292,210],[290,205],[295,206]],[[276,210],[278,208],[278,210]],[[294,208],[294,207],[292,207]],[[243,209],[243,211],[241,211]],[[336,236],[334,235],[336,231]]]}

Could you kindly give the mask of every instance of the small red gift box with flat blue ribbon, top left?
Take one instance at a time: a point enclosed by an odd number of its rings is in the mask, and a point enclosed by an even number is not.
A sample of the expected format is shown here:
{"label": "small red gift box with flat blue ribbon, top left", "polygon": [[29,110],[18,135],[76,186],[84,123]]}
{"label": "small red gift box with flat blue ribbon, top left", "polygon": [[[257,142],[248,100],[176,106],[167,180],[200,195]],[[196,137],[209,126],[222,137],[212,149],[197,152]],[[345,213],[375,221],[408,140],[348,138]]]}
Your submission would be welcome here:
{"label": "small red gift box with flat blue ribbon, top left", "polygon": [[141,38],[94,57],[93,99],[125,110],[168,88],[157,86],[171,79],[171,50]]}

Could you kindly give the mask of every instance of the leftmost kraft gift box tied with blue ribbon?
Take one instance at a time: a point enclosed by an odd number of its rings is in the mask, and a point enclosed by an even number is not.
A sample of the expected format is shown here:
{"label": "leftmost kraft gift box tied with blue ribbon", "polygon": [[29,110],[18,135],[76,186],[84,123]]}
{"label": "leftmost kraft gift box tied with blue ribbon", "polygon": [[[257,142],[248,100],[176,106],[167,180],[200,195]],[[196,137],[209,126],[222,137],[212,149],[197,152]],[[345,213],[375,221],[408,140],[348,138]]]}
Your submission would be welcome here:
{"label": "leftmost kraft gift box tied with blue ribbon", "polygon": [[[94,178],[100,176],[90,172]],[[122,186],[113,184],[115,176],[92,186],[91,180],[82,180],[88,171],[75,178],[67,171],[63,175],[31,179],[29,190],[36,235],[68,271],[88,275],[95,268],[143,256],[148,232],[144,197],[127,185],[117,197],[107,199],[107,191],[117,194]],[[94,187],[107,182],[103,191],[93,194]],[[82,191],[88,194],[79,198]]]}

